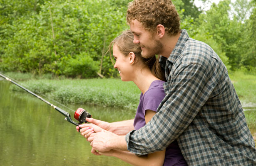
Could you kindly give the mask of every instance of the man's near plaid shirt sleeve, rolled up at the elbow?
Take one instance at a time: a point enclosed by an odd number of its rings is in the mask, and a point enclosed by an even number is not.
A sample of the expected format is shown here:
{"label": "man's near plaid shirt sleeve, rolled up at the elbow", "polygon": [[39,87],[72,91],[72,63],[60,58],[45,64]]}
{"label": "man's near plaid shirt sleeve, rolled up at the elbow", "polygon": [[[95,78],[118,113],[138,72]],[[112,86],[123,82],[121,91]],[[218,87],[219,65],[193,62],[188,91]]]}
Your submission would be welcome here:
{"label": "man's near plaid shirt sleeve, rolled up at the elbow", "polygon": [[135,154],[161,151],[173,142],[191,124],[206,103],[214,86],[208,80],[207,70],[197,63],[176,70],[168,93],[159,105],[160,110],[150,122],[126,136],[127,150]]}

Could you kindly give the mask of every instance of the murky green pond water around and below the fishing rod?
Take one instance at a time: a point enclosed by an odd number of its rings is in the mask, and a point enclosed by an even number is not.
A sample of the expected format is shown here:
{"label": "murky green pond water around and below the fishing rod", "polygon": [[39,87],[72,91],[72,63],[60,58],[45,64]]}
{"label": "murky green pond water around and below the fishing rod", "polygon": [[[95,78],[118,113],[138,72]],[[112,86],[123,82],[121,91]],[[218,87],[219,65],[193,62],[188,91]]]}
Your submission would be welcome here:
{"label": "murky green pond water around and below the fishing rod", "polygon": [[[9,90],[10,85],[7,81],[0,81],[1,165],[129,165],[114,157],[93,155],[89,142],[76,131],[75,125],[64,120],[60,112],[29,93]],[[82,107],[94,118],[108,122],[129,120],[135,115],[132,110],[90,105],[67,106],[73,110]],[[74,120],[75,112],[61,108],[69,112]]]}

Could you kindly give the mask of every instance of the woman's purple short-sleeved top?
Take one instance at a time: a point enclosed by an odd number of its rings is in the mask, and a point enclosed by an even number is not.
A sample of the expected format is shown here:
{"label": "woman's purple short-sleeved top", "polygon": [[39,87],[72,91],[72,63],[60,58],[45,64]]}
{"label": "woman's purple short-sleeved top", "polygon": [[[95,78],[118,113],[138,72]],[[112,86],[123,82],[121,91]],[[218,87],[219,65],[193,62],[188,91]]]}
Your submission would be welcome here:
{"label": "woman's purple short-sleeved top", "polygon": [[[134,117],[133,126],[135,130],[146,125],[146,110],[157,112],[157,107],[165,96],[163,83],[164,81],[161,80],[153,81],[149,89],[144,94],[141,93],[137,112]],[[164,166],[187,166],[176,140],[172,142],[165,151]]]}

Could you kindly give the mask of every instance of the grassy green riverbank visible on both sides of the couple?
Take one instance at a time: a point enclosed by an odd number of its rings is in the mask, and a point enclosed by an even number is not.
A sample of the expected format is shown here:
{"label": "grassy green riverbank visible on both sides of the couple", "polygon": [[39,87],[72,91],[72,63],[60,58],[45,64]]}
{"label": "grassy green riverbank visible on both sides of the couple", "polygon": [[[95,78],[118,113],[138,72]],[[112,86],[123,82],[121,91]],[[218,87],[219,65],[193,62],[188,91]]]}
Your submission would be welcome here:
{"label": "grassy green riverbank visible on both sides of the couple", "polygon": [[[140,90],[132,82],[119,78],[68,79],[50,74],[5,73],[30,90],[38,91],[62,103],[85,103],[109,107],[136,108]],[[243,72],[229,74],[243,107],[256,107],[256,76]],[[22,91],[12,86],[13,90]]]}

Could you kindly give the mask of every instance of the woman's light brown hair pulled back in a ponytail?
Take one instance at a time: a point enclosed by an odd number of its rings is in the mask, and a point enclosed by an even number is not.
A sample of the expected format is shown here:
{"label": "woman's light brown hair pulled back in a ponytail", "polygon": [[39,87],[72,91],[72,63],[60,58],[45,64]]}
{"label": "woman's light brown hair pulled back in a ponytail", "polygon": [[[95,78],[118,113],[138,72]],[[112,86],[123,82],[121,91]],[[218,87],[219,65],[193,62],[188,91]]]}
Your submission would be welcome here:
{"label": "woman's light brown hair pulled back in a ponytail", "polygon": [[141,47],[139,44],[133,43],[133,33],[130,30],[126,30],[122,32],[118,37],[116,37],[111,43],[109,44],[108,51],[110,54],[110,58],[112,61],[112,54],[111,49],[112,46],[115,44],[119,51],[125,55],[128,56],[130,52],[133,52],[138,60],[141,60],[145,66],[149,67],[151,73],[159,78],[162,81],[166,81],[164,69],[159,64],[159,56],[156,58],[156,56],[152,56],[151,58],[144,58],[141,55]]}

